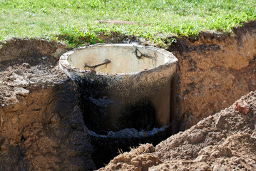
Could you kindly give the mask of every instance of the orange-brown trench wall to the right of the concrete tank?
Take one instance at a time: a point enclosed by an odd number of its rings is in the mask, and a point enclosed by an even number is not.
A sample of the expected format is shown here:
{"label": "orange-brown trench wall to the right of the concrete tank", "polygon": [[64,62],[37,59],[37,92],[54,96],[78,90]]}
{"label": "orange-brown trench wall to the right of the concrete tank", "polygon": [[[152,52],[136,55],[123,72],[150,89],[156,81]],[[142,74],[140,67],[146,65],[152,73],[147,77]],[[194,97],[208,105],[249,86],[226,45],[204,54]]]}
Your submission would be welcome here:
{"label": "orange-brown trench wall to the right of the concrete tank", "polygon": [[178,130],[232,105],[256,90],[256,22],[234,35],[200,33],[177,38],[168,51],[178,58]]}

